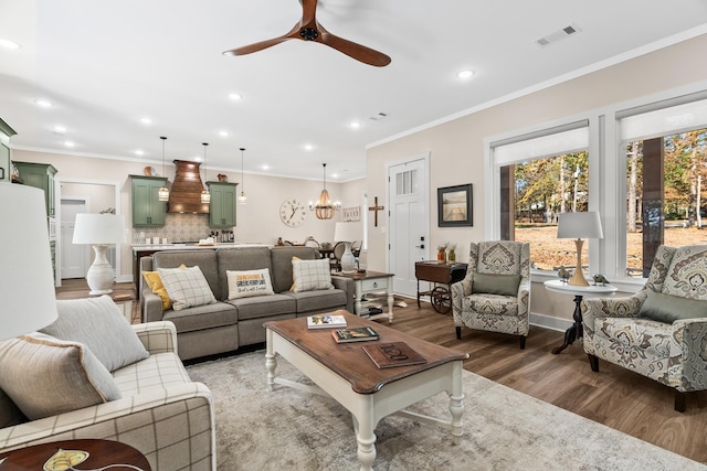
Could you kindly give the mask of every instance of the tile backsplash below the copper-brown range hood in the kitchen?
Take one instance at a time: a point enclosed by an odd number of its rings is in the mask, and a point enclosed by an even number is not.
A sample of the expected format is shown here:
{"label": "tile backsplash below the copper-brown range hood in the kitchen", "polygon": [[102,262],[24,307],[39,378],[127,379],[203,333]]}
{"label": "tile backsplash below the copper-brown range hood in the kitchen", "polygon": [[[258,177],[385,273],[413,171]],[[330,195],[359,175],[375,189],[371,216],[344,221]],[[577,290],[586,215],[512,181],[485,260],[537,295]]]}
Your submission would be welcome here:
{"label": "tile backsplash below the copper-brown range hood in the kitchen", "polygon": [[[170,214],[165,215],[162,227],[133,227],[131,243],[145,244],[146,238],[167,238],[168,244],[178,242],[198,242],[207,238],[212,231],[219,234],[223,229],[212,229],[209,227],[208,214]],[[228,229],[226,229],[228,231]],[[235,231],[235,227],[231,228]]]}

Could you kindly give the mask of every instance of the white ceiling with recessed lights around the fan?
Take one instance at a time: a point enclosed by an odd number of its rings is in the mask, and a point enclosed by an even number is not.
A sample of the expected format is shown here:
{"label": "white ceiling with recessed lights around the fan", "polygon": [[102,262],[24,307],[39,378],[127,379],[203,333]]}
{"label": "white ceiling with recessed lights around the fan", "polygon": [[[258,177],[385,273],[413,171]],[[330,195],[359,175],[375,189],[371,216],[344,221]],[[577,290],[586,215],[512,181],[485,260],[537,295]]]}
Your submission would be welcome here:
{"label": "white ceiling with recessed lights around the fan", "polygon": [[[705,0],[321,0],[328,31],[392,63],[304,41],[221,54],[285,34],[300,12],[297,0],[2,0],[0,38],[21,49],[0,47],[0,117],[19,149],[161,173],[167,136],[168,164],[209,142],[209,168],[240,171],[244,147],[246,172],[320,179],[327,162],[329,181],[349,181],[366,174],[370,143],[707,32]],[[570,24],[581,32],[536,44]],[[464,68],[474,77],[458,79]]]}

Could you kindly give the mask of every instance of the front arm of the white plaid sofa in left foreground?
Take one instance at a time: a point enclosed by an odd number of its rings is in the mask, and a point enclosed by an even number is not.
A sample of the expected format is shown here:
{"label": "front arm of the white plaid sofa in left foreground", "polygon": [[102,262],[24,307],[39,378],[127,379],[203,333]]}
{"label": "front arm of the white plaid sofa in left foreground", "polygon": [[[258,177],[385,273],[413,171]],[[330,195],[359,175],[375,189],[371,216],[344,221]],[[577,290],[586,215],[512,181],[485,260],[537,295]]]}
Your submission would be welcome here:
{"label": "front arm of the white plaid sofa in left foreground", "polygon": [[[179,416],[183,416],[181,420],[189,427],[171,427],[165,433],[167,426],[155,422],[157,417],[177,421]],[[127,443],[145,454],[155,470],[159,462],[169,462],[173,469],[189,469],[197,460],[210,461],[211,469],[215,469],[213,398],[201,383],[155,387],[135,396],[0,429],[0,452],[49,440],[83,438]],[[173,453],[175,449],[184,448],[191,450],[191,456]]]}

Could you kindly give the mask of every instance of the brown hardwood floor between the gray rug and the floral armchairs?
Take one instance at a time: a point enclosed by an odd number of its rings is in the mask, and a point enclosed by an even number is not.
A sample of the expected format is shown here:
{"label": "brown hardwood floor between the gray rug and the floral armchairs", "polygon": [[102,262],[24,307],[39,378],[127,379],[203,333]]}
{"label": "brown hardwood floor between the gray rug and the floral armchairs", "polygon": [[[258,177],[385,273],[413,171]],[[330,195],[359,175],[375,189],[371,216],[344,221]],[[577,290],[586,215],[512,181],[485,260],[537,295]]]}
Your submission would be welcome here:
{"label": "brown hardwood floor between the gray rug and the floral armchairs", "polygon": [[[85,289],[85,280],[68,280],[61,290]],[[456,340],[452,313],[440,314],[429,303],[418,309],[394,308],[391,327],[461,352],[469,358],[464,368],[529,396],[604,424],[661,448],[707,463],[707,392],[687,398],[684,414],[673,408],[673,389],[619,366],[600,361],[593,373],[581,342],[559,355],[563,332],[530,327],[526,350],[511,335],[462,329]],[[139,307],[134,319],[139,319]],[[465,390],[465,400],[474,392]],[[466,420],[473,420],[466,417]],[[571,439],[571,437],[568,437]]]}

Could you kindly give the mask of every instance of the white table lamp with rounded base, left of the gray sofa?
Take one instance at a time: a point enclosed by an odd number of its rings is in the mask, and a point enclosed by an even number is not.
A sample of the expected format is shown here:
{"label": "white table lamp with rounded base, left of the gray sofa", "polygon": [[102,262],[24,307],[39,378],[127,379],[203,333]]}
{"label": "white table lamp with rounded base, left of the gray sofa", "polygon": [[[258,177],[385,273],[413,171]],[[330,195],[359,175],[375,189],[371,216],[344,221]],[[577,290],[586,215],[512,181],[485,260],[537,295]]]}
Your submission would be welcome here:
{"label": "white table lamp with rounded base, left of the gray sofa", "polygon": [[106,258],[108,245],[123,244],[125,237],[125,220],[117,214],[76,214],[74,226],[74,244],[91,244],[96,254],[93,265],[86,274],[91,288],[89,295],[109,295],[113,292],[115,271]]}

